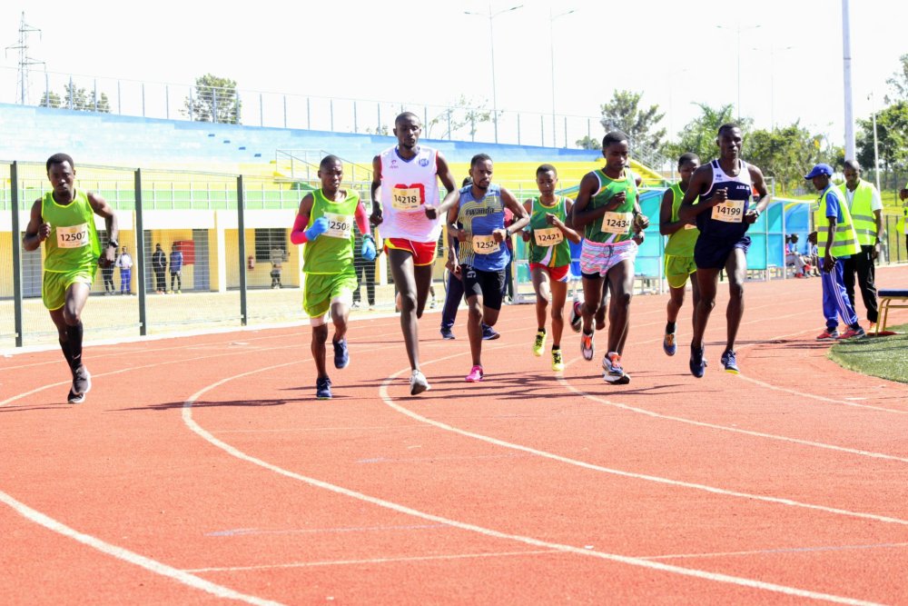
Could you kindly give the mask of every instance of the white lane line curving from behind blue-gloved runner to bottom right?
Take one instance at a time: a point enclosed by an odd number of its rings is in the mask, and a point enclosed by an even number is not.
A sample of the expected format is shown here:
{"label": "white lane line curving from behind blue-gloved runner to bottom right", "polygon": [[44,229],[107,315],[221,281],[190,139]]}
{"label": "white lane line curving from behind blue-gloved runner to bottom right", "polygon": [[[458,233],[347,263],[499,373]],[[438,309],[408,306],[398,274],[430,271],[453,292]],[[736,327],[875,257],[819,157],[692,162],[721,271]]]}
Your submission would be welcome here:
{"label": "white lane line curving from behind blue-gloved runner to bottom right", "polygon": [[[482,526],[478,526],[476,524],[471,524],[468,522],[459,522],[457,520],[451,520],[449,518],[444,518],[444,517],[441,517],[439,515],[435,515],[432,513],[420,512],[419,510],[413,509],[411,507],[407,507],[406,505],[401,505],[399,503],[386,501],[384,499],[380,499],[378,497],[373,497],[368,494],[364,494],[362,492],[353,491],[348,488],[338,486],[336,484],[331,484],[329,482],[323,482],[323,481],[317,480],[315,478],[310,478],[310,477],[301,475],[300,473],[285,470],[282,467],[278,467],[277,465],[274,465],[270,462],[262,461],[262,459],[258,459],[256,457],[253,457],[250,454],[246,454],[245,452],[242,452],[241,450],[235,448],[231,444],[228,444],[227,442],[222,442],[221,440],[215,438],[212,435],[212,433],[207,432],[206,430],[202,429],[202,426],[199,425],[197,422],[195,422],[192,419],[192,402],[195,402],[196,400],[198,400],[202,396],[203,393],[208,392],[212,389],[215,389],[216,387],[219,387],[220,385],[222,385],[226,382],[230,382],[234,379],[239,379],[241,377],[250,375],[252,373],[268,371],[268,370],[272,370],[274,368],[281,368],[282,366],[287,366],[290,364],[291,363],[285,363],[285,364],[280,364],[278,366],[261,368],[256,371],[250,371],[248,373],[236,374],[236,375],[233,375],[232,377],[227,377],[225,379],[222,379],[219,382],[212,383],[208,387],[205,387],[201,391],[193,394],[192,397],[190,397],[188,400],[186,400],[186,402],[183,403],[183,422],[186,423],[186,426],[189,427],[189,429],[192,432],[195,432],[196,434],[198,434],[203,440],[211,443],[213,446],[220,448],[222,451],[227,452],[228,454],[232,455],[233,457],[235,457],[241,461],[250,462],[254,465],[258,465],[264,469],[267,469],[271,472],[275,472],[284,477],[291,478],[293,480],[298,480],[300,482],[309,484],[310,486],[315,486],[317,488],[321,488],[326,491],[335,492],[337,494],[341,494],[343,496],[350,497],[351,499],[357,499],[359,501],[368,502],[368,503],[371,503],[378,507],[388,509],[392,512],[403,513],[403,514],[417,517],[417,518],[420,518],[423,520],[429,520],[430,522],[440,522],[442,524],[449,524],[450,526],[453,526],[454,528],[459,528],[464,531],[475,532],[475,533],[481,534],[483,536],[492,537],[492,538],[496,538],[496,539],[505,539],[508,541],[517,541],[517,542],[521,542],[521,543],[524,543],[527,545],[531,545],[533,547],[537,547],[539,549],[548,549],[548,550],[555,550],[555,551],[563,551],[566,553],[574,553],[576,555],[583,555],[583,556],[598,558],[598,559],[606,560],[606,561],[615,561],[615,562],[627,564],[630,566],[646,568],[648,570],[660,571],[660,572],[670,572],[670,573],[674,573],[674,574],[678,574],[678,575],[682,575],[682,576],[686,576],[686,577],[702,579],[705,581],[714,581],[714,582],[732,584],[732,585],[736,585],[739,587],[747,587],[750,589],[755,589],[755,590],[760,590],[760,591],[771,591],[771,592],[782,593],[785,595],[791,595],[791,596],[795,596],[795,597],[799,597],[799,598],[831,601],[831,602],[839,603],[839,604],[854,604],[854,605],[875,604],[875,602],[871,602],[871,601],[856,600],[854,598],[846,598],[843,596],[833,595],[830,593],[803,590],[803,589],[798,589],[796,587],[788,587],[785,585],[779,585],[776,583],[765,582],[765,581],[756,581],[755,579],[746,579],[744,577],[736,577],[736,576],[729,575],[729,574],[723,574],[721,572],[701,571],[701,570],[697,570],[697,569],[693,569],[693,568],[684,568],[681,566],[666,564],[666,563],[662,563],[659,561],[647,561],[647,560],[643,560],[641,558],[618,555],[616,553],[607,553],[605,551],[590,550],[590,549],[585,549],[582,547],[575,547],[573,545],[565,545],[565,544],[555,543],[555,542],[550,542],[550,541],[541,541],[539,539],[534,539],[532,537],[527,537],[527,536],[523,536],[523,535],[519,535],[519,534],[511,534],[508,532],[502,532],[502,531],[492,530],[489,528],[484,528]],[[400,372],[397,374],[400,374]],[[396,375],[394,375],[394,376],[396,376]],[[387,379],[385,382],[382,382],[382,386],[380,388],[382,391],[387,390],[387,385],[392,378],[393,378],[393,376],[390,377],[389,379]]]}

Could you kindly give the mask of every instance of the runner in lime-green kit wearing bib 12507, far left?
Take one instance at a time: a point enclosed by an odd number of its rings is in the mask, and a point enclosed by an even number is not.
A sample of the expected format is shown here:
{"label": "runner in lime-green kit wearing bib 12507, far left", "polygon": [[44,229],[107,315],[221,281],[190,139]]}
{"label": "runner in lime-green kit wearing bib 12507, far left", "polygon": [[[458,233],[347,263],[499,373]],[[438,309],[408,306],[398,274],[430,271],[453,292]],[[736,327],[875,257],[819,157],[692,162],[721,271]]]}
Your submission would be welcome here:
{"label": "runner in lime-green kit wearing bib 12507, far left", "polygon": [[[57,329],[60,349],[73,373],[66,402],[78,404],[92,389],[92,374],[82,361],[82,310],[92,290],[98,263],[112,267],[120,244],[114,210],[100,194],[75,188],[75,163],[54,154],[45,164],[52,191],[35,200],[22,247],[35,251],[44,243],[41,299]],[[104,217],[107,245],[102,250],[94,215]]]}

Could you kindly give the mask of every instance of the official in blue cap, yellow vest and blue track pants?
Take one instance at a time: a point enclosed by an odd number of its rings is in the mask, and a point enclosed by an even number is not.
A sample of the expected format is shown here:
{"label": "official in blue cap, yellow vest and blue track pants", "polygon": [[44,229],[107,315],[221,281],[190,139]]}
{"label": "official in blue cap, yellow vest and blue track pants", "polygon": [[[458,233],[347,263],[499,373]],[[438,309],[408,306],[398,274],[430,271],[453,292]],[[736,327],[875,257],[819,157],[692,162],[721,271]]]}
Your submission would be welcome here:
{"label": "official in blue cap, yellow vest and blue track pants", "polygon": [[[817,337],[817,341],[835,341],[866,336],[857,314],[848,300],[843,281],[843,261],[853,254],[861,252],[854,232],[851,213],[844,197],[838,188],[830,183],[833,167],[829,164],[817,164],[814,170],[805,174],[820,193],[814,205],[814,227],[816,243],[819,246],[820,269],[823,283],[823,315],[826,327]],[[848,325],[844,333],[839,333],[838,317],[841,316]]]}

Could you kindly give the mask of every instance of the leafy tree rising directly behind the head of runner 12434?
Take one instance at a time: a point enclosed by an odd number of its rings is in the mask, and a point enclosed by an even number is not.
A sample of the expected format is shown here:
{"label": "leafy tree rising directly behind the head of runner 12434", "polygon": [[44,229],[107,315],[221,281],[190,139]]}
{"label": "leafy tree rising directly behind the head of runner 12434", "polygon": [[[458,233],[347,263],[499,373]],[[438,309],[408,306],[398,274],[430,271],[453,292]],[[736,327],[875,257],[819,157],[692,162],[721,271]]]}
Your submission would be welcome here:
{"label": "leafy tree rising directly behind the head of runner 12434", "polygon": [[599,121],[606,132],[619,129],[630,138],[631,154],[649,160],[661,155],[663,138],[666,129],[656,130],[665,114],[659,113],[658,105],[650,105],[647,109],[640,109],[640,93],[630,91],[615,91],[612,100],[601,105],[602,119]]}

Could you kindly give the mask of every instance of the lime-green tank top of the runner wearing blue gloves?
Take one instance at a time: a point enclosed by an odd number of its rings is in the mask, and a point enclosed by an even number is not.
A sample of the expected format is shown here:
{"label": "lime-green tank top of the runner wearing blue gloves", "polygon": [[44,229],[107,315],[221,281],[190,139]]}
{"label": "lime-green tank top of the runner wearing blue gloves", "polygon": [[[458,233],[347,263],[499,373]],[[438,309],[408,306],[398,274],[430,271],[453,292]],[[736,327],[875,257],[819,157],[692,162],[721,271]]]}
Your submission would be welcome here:
{"label": "lime-green tank top of the runner wearing blue gloves", "polygon": [[353,222],[359,204],[360,194],[349,190],[341,202],[331,202],[321,189],[312,192],[312,212],[306,228],[325,217],[328,231],[303,247],[303,273],[344,273],[353,267]]}

